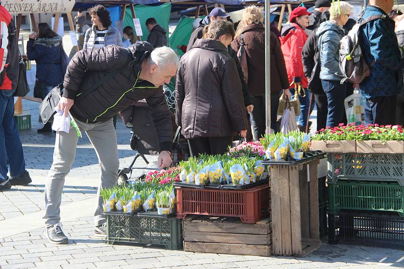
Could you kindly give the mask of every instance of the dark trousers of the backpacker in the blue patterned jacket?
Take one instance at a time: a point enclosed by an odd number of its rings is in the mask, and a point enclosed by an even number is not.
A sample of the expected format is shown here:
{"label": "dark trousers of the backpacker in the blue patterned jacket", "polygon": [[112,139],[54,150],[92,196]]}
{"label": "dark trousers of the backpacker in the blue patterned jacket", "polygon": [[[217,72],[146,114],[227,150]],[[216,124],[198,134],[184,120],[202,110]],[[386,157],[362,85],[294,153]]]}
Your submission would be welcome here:
{"label": "dark trousers of the backpacker in the blue patterned jacket", "polygon": [[395,124],[397,95],[365,99],[363,104],[366,124]]}

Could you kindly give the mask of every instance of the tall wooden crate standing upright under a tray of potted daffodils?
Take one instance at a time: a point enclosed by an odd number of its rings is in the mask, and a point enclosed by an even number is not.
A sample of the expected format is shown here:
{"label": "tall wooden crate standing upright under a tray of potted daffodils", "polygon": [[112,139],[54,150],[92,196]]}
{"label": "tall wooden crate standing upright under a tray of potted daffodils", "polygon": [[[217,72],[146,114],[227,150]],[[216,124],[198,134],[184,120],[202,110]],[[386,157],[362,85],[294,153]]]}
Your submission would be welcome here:
{"label": "tall wooden crate standing upright under a tray of potted daffodils", "polygon": [[274,255],[306,256],[321,246],[318,163],[313,160],[301,165],[271,165]]}

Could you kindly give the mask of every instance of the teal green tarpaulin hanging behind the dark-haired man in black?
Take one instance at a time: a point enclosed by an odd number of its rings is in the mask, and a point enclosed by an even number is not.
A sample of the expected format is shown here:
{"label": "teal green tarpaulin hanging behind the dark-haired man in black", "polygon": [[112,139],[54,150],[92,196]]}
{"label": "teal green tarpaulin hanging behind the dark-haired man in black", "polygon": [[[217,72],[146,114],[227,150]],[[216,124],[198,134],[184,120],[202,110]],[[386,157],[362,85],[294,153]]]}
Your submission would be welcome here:
{"label": "teal green tarpaulin hanging behind the dark-haired man in black", "polygon": [[[147,40],[148,31],[145,25],[145,22],[148,18],[155,18],[157,23],[160,24],[161,27],[166,29],[167,38],[168,38],[168,23],[170,22],[170,13],[171,13],[171,3],[165,3],[160,6],[145,6],[145,5],[135,5],[135,15],[136,18],[140,20],[140,24],[142,26],[143,35],[141,36],[141,40]],[[123,27],[131,26],[133,30],[135,30],[135,26],[133,25],[133,18],[130,9],[125,10],[125,19],[123,21]]]}

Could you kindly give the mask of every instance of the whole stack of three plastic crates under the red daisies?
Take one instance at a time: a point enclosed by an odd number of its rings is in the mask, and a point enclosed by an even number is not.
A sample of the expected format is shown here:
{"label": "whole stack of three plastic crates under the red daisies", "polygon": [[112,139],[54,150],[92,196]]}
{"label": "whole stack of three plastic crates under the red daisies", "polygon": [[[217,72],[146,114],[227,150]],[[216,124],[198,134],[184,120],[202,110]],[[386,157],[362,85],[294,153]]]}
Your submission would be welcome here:
{"label": "whole stack of three plastic crates under the red daisies", "polygon": [[[404,221],[404,154],[328,154],[327,183],[329,243],[380,240],[371,231]],[[359,236],[363,225],[351,219],[366,222],[366,232]],[[384,232],[404,234],[404,227]]]}

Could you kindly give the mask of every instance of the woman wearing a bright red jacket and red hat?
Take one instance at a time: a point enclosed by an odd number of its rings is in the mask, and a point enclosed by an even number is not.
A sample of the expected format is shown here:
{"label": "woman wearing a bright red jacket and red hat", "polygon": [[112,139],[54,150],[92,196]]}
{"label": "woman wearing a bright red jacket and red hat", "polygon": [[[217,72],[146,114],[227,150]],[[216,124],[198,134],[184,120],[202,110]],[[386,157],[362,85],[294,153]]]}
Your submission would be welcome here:
{"label": "woman wearing a bright red jacket and red hat", "polygon": [[285,58],[287,76],[289,78],[289,84],[291,85],[291,92],[294,93],[295,85],[300,84],[305,89],[301,91],[299,96],[300,101],[300,115],[299,115],[299,128],[300,130],[306,130],[307,117],[309,115],[309,103],[310,97],[307,92],[308,80],[305,77],[303,71],[303,62],[301,60],[301,51],[308,38],[305,29],[309,26],[309,15],[311,13],[307,11],[305,7],[295,8],[290,13],[290,24],[283,27],[281,37],[281,48],[283,57]]}

